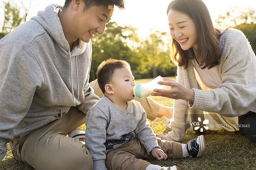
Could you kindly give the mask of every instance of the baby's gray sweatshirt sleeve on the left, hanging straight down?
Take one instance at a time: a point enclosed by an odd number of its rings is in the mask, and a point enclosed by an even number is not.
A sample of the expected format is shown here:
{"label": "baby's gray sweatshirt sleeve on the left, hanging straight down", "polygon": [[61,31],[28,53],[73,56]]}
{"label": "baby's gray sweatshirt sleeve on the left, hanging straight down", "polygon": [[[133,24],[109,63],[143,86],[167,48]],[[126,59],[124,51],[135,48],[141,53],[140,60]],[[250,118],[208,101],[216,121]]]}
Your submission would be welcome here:
{"label": "baby's gray sweatshirt sleeve on the left, hanging straight down", "polygon": [[93,169],[106,169],[106,127],[107,117],[96,106],[87,113],[85,119],[85,144],[92,155]]}

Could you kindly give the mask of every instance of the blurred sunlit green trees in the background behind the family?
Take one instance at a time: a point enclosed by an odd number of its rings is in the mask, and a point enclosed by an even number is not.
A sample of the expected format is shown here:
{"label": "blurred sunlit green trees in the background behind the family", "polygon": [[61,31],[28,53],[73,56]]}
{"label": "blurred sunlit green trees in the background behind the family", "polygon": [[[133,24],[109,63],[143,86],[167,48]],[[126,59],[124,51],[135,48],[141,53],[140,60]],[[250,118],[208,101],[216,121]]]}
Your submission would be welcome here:
{"label": "blurred sunlit green trees in the background behind the family", "polygon": [[[15,1],[9,0],[3,4],[4,23],[2,31],[0,30],[0,39],[26,21],[30,6],[17,7],[13,2]],[[229,26],[240,29],[247,36],[253,50],[256,49],[256,12],[251,7],[231,6],[225,14],[219,15],[216,23],[217,28],[222,30]],[[177,68],[168,57],[170,33],[151,29],[148,37],[140,38],[136,30],[132,26],[119,26],[115,22],[110,22],[103,35],[97,34],[92,38],[90,81],[96,79],[98,65],[108,58],[129,62],[135,79],[176,75]]]}

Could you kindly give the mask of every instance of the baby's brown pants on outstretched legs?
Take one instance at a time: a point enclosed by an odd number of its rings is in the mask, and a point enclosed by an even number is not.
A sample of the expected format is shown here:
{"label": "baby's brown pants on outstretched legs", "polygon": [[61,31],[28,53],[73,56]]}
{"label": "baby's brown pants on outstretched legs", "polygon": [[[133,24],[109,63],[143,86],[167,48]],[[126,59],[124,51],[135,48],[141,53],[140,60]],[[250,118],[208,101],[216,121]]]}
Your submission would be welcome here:
{"label": "baby's brown pants on outstretched legs", "polygon": [[[181,143],[161,140],[160,138],[157,138],[157,141],[164,153],[167,154],[167,158],[182,158]],[[138,137],[107,152],[106,156],[108,170],[145,170],[150,163],[143,159],[156,159],[152,155],[148,155]]]}

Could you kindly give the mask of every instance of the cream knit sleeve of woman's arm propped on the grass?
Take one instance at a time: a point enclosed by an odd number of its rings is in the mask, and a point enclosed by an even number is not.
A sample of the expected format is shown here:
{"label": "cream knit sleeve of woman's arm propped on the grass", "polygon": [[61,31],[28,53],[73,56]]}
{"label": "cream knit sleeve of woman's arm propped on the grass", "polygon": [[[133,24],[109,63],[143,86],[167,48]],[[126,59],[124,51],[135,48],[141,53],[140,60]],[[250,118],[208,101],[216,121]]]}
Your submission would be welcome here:
{"label": "cream knit sleeve of woman's arm propped on the grass", "polygon": [[[177,83],[184,85],[182,67],[178,67]],[[180,142],[184,137],[186,130],[190,127],[187,121],[188,117],[188,102],[185,100],[174,100],[173,119],[171,120],[172,131],[165,136],[166,140]]]}

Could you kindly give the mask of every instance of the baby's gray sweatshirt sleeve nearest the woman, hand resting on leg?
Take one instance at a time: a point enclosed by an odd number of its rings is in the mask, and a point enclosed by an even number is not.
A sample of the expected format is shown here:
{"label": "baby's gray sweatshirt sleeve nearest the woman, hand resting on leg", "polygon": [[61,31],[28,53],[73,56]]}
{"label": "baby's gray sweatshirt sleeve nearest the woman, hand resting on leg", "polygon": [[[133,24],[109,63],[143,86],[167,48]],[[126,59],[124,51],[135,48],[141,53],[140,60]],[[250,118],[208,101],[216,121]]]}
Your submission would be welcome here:
{"label": "baby's gray sweatshirt sleeve nearest the woman, hand resting on leg", "polygon": [[154,148],[157,147],[161,149],[161,147],[158,145],[156,135],[154,134],[152,128],[149,126],[146,112],[141,105],[140,110],[138,112],[142,112],[142,116],[137,128],[134,130],[134,133],[135,135],[137,135],[137,137],[140,140],[140,143],[144,145],[148,154],[150,155],[150,152]]}

